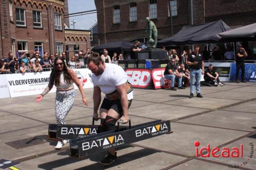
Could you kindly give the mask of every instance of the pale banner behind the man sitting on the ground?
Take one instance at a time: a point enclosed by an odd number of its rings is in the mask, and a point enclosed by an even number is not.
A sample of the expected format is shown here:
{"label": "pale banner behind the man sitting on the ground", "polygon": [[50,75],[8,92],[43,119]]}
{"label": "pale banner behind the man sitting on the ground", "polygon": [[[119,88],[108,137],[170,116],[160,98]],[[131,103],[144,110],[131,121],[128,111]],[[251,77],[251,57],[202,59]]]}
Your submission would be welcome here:
{"label": "pale banner behind the man sitting on the ground", "polygon": [[229,81],[229,73],[230,73],[230,66],[231,63],[204,63],[204,69],[208,69],[209,64],[212,64],[214,66],[214,69],[216,72],[218,72],[219,79],[221,82],[228,82]]}

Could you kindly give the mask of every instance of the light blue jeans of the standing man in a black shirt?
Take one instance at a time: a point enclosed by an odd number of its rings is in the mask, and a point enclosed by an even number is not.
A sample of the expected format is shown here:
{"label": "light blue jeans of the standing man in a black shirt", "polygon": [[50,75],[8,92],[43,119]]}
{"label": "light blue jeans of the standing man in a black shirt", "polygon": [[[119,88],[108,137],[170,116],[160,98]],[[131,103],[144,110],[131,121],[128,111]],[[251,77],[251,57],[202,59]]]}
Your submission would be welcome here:
{"label": "light blue jeans of the standing man in a black shirt", "polygon": [[196,89],[197,89],[197,94],[200,93],[200,80],[202,76],[202,69],[200,68],[199,70],[195,70],[190,68],[190,93],[194,94],[195,87],[194,87],[194,82],[196,79]]}

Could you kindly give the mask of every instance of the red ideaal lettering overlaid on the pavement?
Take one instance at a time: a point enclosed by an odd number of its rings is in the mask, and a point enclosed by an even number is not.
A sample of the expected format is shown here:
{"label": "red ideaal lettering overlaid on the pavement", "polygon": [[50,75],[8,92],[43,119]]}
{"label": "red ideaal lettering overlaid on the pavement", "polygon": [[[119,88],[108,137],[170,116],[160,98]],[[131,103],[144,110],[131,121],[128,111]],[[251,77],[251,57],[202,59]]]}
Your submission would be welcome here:
{"label": "red ideaal lettering overlaid on the pavement", "polygon": [[[212,157],[223,157],[223,158],[229,158],[229,157],[233,157],[233,158],[238,158],[238,157],[243,157],[243,144],[240,144],[240,148],[231,148],[231,150],[229,148],[212,148],[210,149],[210,144],[207,144],[207,147],[203,147],[199,150],[198,152],[198,147],[200,145],[199,141],[195,141],[194,142],[195,147],[196,147],[196,157],[198,157],[198,153],[201,157],[206,158],[206,157],[210,157],[210,155]],[[231,151],[231,152],[230,152]]]}

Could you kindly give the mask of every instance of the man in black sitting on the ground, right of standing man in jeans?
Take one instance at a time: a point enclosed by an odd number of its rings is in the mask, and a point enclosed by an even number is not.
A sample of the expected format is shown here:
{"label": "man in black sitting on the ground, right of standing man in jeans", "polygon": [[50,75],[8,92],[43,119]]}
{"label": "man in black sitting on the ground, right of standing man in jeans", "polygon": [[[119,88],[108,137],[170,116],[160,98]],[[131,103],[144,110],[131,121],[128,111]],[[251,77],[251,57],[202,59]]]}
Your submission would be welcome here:
{"label": "man in black sitting on the ground, right of standing man in jeans", "polygon": [[214,86],[224,86],[224,84],[220,82],[219,74],[214,70],[212,64],[209,64],[208,69],[204,71],[204,81],[213,84]]}

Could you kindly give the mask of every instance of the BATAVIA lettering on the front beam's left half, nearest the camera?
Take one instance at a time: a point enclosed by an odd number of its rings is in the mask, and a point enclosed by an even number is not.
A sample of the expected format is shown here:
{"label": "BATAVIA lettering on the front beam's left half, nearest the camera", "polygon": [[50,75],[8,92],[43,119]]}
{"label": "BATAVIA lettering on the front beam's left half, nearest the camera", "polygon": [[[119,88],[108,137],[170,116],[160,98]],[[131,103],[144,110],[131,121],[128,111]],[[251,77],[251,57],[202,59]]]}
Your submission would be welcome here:
{"label": "BATAVIA lettering on the front beam's left half, nearest the camera", "polygon": [[119,134],[119,135],[114,135],[114,136],[93,140],[91,143],[83,142],[82,150],[85,151],[85,150],[92,149],[94,147],[102,147],[103,149],[107,149],[107,148],[118,146],[120,144],[124,144],[124,140],[122,135]]}

